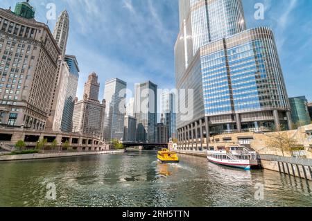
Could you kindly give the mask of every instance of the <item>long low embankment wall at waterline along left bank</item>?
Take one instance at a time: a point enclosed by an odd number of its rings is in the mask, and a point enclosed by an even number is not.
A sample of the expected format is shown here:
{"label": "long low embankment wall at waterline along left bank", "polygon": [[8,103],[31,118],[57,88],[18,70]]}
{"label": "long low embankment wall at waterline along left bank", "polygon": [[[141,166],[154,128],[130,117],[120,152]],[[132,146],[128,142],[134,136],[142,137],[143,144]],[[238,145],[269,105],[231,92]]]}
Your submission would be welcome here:
{"label": "long low embankment wall at waterline along left bank", "polygon": [[123,153],[124,150],[105,150],[98,152],[53,152],[41,154],[17,154],[17,155],[0,155],[0,161],[18,161],[18,160],[34,160],[34,159],[49,159],[60,157],[80,157],[86,155],[96,154],[118,154]]}

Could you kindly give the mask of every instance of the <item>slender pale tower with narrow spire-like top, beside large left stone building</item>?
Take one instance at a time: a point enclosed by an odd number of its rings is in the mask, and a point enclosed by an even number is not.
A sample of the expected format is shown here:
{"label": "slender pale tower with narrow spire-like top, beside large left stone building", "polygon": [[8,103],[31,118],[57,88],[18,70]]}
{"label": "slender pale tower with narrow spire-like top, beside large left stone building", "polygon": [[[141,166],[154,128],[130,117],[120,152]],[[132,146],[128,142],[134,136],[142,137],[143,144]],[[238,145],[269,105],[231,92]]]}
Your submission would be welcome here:
{"label": "slender pale tower with narrow spire-like top, beside large left stone building", "polygon": [[53,32],[53,37],[55,42],[58,44],[62,55],[60,55],[58,60],[58,74],[55,76],[55,87],[50,98],[51,107],[49,119],[46,124],[46,129],[52,131],[62,131],[62,116],[67,99],[67,89],[68,87],[71,87],[71,85],[69,85],[71,83],[69,82],[69,65],[64,61],[68,35],[69,15],[67,11],[64,10],[58,17],[58,21],[56,22]]}

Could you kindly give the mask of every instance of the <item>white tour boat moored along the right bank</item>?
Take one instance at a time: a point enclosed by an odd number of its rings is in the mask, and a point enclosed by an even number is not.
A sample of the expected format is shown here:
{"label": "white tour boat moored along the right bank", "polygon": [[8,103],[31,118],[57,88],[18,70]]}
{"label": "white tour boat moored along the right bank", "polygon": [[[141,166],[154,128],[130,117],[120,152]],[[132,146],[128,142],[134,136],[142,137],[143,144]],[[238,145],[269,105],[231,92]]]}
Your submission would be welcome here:
{"label": "white tour boat moored along the right bank", "polygon": [[245,170],[259,166],[257,152],[240,146],[210,147],[207,151],[207,159],[212,163]]}

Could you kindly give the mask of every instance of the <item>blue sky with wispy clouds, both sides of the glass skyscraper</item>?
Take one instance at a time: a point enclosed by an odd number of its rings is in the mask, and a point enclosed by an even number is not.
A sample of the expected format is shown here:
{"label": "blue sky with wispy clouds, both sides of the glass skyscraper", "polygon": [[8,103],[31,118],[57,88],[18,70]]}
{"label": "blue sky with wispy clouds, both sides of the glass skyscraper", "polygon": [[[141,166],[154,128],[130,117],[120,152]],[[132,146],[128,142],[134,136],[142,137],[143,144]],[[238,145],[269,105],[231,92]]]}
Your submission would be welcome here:
{"label": "blue sky with wispy clouds, both sides of the glass skyscraper", "polygon": [[[265,19],[254,19],[254,4],[266,7]],[[14,8],[17,0],[1,0]],[[133,89],[151,80],[162,89],[175,87],[173,46],[178,33],[177,0],[36,0],[36,19],[46,23],[46,5],[70,16],[67,53],[80,66],[78,97],[91,71],[101,81],[120,78]],[[243,0],[248,28],[270,26],[275,33],[288,96],[306,95],[312,101],[312,1]],[[49,21],[51,30],[55,20]]]}

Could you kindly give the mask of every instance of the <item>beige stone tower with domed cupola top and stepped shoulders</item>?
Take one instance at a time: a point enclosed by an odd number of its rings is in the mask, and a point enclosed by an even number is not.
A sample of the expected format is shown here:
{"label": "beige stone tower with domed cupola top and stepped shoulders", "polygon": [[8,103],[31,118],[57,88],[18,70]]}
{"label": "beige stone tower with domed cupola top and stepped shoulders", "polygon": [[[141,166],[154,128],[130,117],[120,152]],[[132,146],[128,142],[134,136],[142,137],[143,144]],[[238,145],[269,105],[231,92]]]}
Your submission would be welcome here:
{"label": "beige stone tower with domed cupola top and stepped shoulders", "polygon": [[90,73],[88,81],[85,83],[85,92],[89,94],[84,94],[83,100],[75,99],[73,132],[101,136],[103,139],[105,100],[102,103],[98,101],[99,89],[98,76],[94,72]]}

